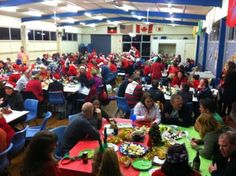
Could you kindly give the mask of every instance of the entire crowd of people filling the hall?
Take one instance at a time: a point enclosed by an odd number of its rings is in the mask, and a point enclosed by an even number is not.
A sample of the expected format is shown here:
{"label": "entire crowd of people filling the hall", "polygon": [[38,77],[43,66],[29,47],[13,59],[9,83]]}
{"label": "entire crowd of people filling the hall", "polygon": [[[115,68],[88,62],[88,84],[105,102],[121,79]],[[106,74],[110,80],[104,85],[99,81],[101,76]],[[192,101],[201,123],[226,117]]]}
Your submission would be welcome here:
{"label": "entire crowd of people filling the hall", "polygon": [[[46,104],[46,91],[63,92],[64,84],[69,82],[88,89],[87,94],[82,93],[81,89],[72,94],[64,92],[71,105],[69,112],[80,112],[76,105],[77,99],[82,99],[83,102],[81,112],[70,121],[63,135],[61,150],[66,154],[80,140],[100,140],[102,118],[106,118],[108,122],[111,118],[101,106],[104,102],[109,102],[107,85],[110,84],[112,88],[117,87],[118,97],[125,97],[138,125],[194,125],[200,139],[193,138],[190,144],[202,157],[214,161],[209,172],[213,176],[233,175],[236,152],[236,84],[233,83],[236,80],[235,63],[228,62],[223,70],[219,97],[216,97],[211,91],[210,80],[189,74],[194,66],[193,60],[187,59],[184,63],[180,55],[153,55],[146,61],[139,57],[137,49],[132,48],[129,53],[111,53],[107,57],[96,51],[62,56],[54,54],[51,58],[44,54],[42,59],[38,58],[35,63],[30,64],[28,54],[22,47],[16,63],[9,60],[0,62],[1,76],[5,81],[1,81],[0,105],[21,111],[24,109],[24,99],[29,96],[37,99],[40,105]],[[119,84],[116,80],[118,72],[125,73]],[[44,90],[48,80],[52,81],[47,90]],[[146,89],[145,85],[150,87]],[[172,94],[173,88],[176,92]],[[190,88],[194,91],[191,92]],[[167,92],[171,94],[170,99],[165,98]],[[192,101],[193,97],[197,98],[197,102]],[[39,108],[39,116],[45,111],[44,108]],[[121,117],[129,118],[130,115],[132,114]],[[22,122],[24,118],[17,122]],[[8,125],[0,117],[0,151],[4,151],[9,145],[15,133],[14,125],[15,122]],[[25,152],[21,175],[59,175],[52,156],[56,141],[56,136],[47,131],[33,137]],[[94,158],[99,160],[94,161],[97,167],[94,168],[95,175],[122,175],[114,151],[105,149],[98,155],[98,158]],[[198,176],[200,173],[189,166],[185,146],[176,144],[168,149],[165,163],[153,175]]]}

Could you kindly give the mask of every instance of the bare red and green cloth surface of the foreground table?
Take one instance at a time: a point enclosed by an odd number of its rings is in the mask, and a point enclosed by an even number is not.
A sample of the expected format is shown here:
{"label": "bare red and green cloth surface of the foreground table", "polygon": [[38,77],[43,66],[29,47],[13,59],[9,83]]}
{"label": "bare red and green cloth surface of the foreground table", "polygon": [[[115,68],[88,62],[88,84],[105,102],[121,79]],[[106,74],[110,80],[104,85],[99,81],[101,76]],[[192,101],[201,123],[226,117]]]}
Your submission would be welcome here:
{"label": "bare red and green cloth surface of the foreground table", "polygon": [[[123,123],[123,122],[130,122],[130,120],[127,119],[116,119],[116,121],[118,123]],[[188,138],[184,138],[182,140],[180,140],[179,142],[181,143],[185,143],[187,150],[189,152],[189,162],[191,162],[193,160],[193,158],[196,155],[196,152],[191,148],[190,146],[190,138],[198,138],[199,135],[198,133],[194,130],[193,127],[190,128],[182,128],[179,127],[180,130],[183,131],[187,131],[189,134]],[[101,137],[103,137],[102,135],[102,131],[103,128],[100,130],[100,134]],[[144,146],[147,146],[147,142],[148,142],[148,135],[145,136],[144,142],[142,143]],[[99,146],[98,141],[80,141],[78,142],[69,152],[69,155],[71,157],[74,156],[78,156],[78,154],[84,150],[84,149],[96,149]],[[119,146],[119,145],[118,145]],[[119,151],[117,151],[117,155],[118,157],[123,156]],[[210,165],[211,161],[204,159],[201,157],[201,174],[202,176],[209,176],[210,174],[208,173],[208,166]],[[156,166],[153,166],[153,168],[155,168]],[[77,160],[77,161],[73,161],[69,164],[61,164],[61,162],[59,162],[59,168],[62,172],[62,175],[66,175],[66,176],[76,176],[76,175],[82,175],[82,176],[91,176],[92,174],[92,161],[89,160],[88,164],[83,164],[82,160]],[[145,172],[140,172],[136,169],[134,169],[132,166],[126,168],[123,165],[120,165],[120,169],[123,173],[124,176],[150,176],[150,171],[145,171]]]}

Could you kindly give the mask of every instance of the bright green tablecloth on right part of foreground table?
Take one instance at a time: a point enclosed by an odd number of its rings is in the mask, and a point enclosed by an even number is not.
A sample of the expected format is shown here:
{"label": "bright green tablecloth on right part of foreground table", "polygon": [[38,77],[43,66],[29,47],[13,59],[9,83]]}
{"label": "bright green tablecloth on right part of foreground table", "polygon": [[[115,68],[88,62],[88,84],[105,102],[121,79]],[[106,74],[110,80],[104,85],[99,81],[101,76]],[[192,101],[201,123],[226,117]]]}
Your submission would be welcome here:
{"label": "bright green tablecloth on right part of foreground table", "polygon": [[[178,127],[178,129],[181,131],[188,132],[188,137],[178,140],[178,142],[185,143],[187,150],[188,150],[188,154],[189,154],[189,162],[192,163],[194,157],[196,156],[196,151],[191,148],[190,139],[193,137],[199,139],[200,138],[199,134],[198,134],[198,132],[196,132],[194,130],[193,127],[190,127],[190,128]],[[201,175],[202,176],[210,176],[210,174],[208,172],[208,167],[211,164],[211,160],[207,160],[203,157],[200,157],[200,159],[201,159],[201,167],[200,167]],[[155,168],[155,166],[153,168]],[[139,176],[150,176],[150,172],[149,171],[140,172]]]}

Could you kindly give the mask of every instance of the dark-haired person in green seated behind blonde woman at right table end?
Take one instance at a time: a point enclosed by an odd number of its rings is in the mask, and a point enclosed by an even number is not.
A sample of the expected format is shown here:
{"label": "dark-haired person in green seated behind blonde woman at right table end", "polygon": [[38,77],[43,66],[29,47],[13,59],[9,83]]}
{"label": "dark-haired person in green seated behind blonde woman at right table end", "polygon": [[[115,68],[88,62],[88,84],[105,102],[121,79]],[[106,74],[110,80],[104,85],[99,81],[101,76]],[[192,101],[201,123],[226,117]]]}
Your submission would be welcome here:
{"label": "dark-haired person in green seated behind blonde woman at right table end", "polygon": [[214,100],[210,98],[203,98],[199,101],[199,105],[200,105],[199,110],[201,114],[197,118],[196,123],[194,125],[196,131],[199,131],[198,120],[205,118],[205,116],[211,116],[217,121],[217,123],[224,125],[222,118],[219,116],[219,114],[216,113],[216,104]]}

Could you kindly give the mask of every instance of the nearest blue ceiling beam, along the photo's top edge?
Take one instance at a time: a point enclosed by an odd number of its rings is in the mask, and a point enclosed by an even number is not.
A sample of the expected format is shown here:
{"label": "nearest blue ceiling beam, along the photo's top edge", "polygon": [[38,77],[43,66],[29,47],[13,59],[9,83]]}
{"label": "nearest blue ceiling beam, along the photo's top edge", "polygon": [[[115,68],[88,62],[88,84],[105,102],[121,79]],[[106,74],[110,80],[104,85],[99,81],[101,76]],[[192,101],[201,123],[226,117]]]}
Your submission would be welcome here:
{"label": "nearest blue ceiling beam, along the photo's top edge", "polygon": [[222,0],[128,0],[140,3],[172,3],[179,5],[222,7]]}

